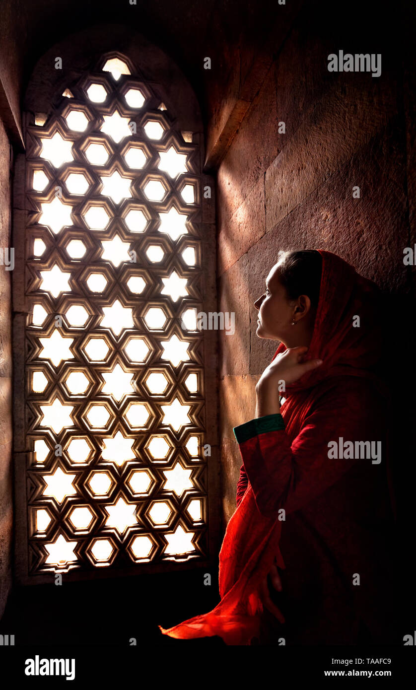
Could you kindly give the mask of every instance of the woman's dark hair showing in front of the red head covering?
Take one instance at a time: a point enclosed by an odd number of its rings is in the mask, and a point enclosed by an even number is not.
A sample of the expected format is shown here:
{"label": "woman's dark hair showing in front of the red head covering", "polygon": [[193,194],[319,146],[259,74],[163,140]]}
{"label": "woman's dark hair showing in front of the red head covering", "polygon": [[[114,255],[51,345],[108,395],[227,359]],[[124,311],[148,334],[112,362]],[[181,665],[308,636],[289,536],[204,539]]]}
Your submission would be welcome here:
{"label": "woman's dark hair showing in front of the red head covering", "polygon": [[313,308],[318,306],[321,285],[322,257],[314,249],[284,251],[277,254],[280,282],[288,299],[308,295]]}

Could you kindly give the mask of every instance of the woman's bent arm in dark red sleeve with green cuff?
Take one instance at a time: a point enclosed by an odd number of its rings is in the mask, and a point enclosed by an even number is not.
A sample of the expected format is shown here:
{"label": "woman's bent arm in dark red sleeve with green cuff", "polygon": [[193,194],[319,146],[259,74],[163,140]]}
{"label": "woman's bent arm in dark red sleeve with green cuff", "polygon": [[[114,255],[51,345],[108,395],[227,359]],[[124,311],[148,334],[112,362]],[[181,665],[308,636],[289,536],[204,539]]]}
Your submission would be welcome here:
{"label": "woman's bent arm in dark red sleeve with green cuff", "polygon": [[[377,398],[366,383],[351,380],[322,395],[290,444],[283,417],[270,414],[234,428],[244,470],[259,512],[273,517],[301,509],[337,482],[356,462],[371,459],[328,457],[329,442],[384,441]],[[380,413],[381,414],[381,413]],[[386,452],[382,443],[382,462]],[[385,458],[384,458],[385,461]],[[376,471],[376,470],[375,470]]]}

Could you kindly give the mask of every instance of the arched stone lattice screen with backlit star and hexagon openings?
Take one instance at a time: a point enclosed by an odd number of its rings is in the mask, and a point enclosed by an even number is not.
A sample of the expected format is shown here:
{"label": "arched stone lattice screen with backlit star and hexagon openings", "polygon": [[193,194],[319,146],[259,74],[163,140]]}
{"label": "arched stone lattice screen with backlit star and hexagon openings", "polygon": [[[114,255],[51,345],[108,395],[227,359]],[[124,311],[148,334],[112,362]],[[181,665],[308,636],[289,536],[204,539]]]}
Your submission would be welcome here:
{"label": "arched stone lattice screen with backlit star and hexagon openings", "polygon": [[206,558],[201,170],[174,115],[113,54],[26,127],[28,575]]}

